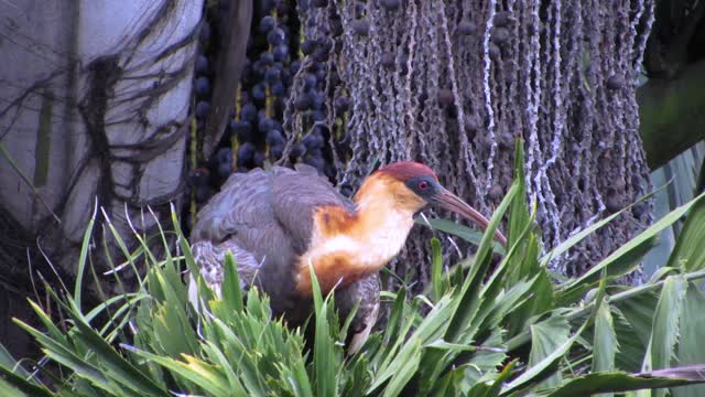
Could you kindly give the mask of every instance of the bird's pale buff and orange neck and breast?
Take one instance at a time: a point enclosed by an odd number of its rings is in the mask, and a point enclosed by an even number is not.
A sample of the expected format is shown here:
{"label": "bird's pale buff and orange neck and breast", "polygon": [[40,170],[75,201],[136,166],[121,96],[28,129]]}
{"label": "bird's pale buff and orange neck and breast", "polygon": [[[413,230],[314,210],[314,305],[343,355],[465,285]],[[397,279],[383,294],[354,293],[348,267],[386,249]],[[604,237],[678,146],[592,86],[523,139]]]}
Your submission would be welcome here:
{"label": "bird's pale buff and orange neck and breast", "polygon": [[314,214],[311,248],[301,257],[296,289],[311,294],[310,264],[324,293],[379,271],[404,246],[413,214],[425,202],[386,175],[369,178],[355,196],[356,212],[322,206]]}

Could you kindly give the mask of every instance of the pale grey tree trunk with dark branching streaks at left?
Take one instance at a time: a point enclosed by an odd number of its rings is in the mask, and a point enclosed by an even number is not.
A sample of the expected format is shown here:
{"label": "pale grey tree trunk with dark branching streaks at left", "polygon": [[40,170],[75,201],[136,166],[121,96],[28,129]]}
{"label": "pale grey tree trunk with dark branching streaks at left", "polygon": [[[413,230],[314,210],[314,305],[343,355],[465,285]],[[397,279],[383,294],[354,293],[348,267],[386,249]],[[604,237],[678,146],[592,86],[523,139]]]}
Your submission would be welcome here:
{"label": "pale grey tree trunk with dark branching streaks at left", "polygon": [[[18,236],[0,242],[0,265],[24,276],[6,290],[26,289],[29,269],[17,260],[28,253],[37,267],[45,255],[59,276],[74,275],[96,205],[123,236],[129,222],[154,229],[156,221],[140,214],[148,206],[169,224],[184,181],[202,8],[198,0],[0,2],[0,206]],[[107,228],[96,227],[91,243],[101,248],[90,259],[98,275],[110,267],[104,253],[119,264]]]}

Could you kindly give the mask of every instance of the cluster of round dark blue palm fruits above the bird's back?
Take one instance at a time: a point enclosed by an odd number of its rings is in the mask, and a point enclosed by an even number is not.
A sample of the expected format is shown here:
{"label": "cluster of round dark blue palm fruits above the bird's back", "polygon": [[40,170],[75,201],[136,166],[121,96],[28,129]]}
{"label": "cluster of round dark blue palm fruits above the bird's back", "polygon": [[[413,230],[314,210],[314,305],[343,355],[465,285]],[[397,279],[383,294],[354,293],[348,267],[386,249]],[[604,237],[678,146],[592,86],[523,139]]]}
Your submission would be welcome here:
{"label": "cluster of round dark blue palm fruits above the bird's back", "polygon": [[[195,205],[203,205],[232,172],[247,172],[270,164],[303,162],[336,181],[338,165],[350,155],[343,126],[349,99],[339,86],[328,61],[333,40],[314,35],[312,8],[327,1],[254,2],[247,60],[223,138],[209,159],[195,158],[195,141],[210,111],[213,63],[216,58],[218,24],[227,14],[228,1],[208,2],[200,30],[199,53],[194,74],[193,171],[189,187]],[[332,34],[341,33],[329,32]],[[196,139],[193,139],[196,138]],[[341,186],[345,194],[350,186]]]}

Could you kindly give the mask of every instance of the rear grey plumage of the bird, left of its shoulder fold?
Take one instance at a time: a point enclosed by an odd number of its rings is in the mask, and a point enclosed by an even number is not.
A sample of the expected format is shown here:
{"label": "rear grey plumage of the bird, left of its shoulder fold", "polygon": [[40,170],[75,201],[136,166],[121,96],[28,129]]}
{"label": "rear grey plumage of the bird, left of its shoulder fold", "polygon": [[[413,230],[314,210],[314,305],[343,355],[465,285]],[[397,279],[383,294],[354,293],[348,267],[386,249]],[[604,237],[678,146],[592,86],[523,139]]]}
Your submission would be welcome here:
{"label": "rear grey plumage of the bird, left of its shoulder fold", "polygon": [[[236,258],[240,256],[245,259],[238,261],[238,271],[257,275],[252,282],[270,296],[275,315],[295,304],[291,297],[295,287],[292,264],[297,258],[273,208],[276,200],[273,181],[282,174],[295,173],[278,168],[230,175],[220,192],[197,214],[191,235],[193,247],[203,253],[200,257],[213,258],[198,266],[202,267],[202,273],[210,271],[214,280],[223,271],[218,253],[225,253],[228,247],[235,248]],[[209,243],[210,247],[200,242]]]}

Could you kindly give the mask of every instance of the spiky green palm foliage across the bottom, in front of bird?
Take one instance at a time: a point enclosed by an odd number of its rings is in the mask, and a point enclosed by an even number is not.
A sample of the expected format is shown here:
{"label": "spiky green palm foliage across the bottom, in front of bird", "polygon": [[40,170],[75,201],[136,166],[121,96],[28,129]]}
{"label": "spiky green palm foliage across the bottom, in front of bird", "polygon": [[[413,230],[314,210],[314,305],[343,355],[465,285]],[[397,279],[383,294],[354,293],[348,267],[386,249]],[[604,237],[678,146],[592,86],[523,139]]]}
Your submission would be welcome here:
{"label": "spiky green palm foliage across the bottom, in front of bird", "polygon": [[[243,297],[236,266],[226,259],[220,297],[197,282],[188,300],[183,271],[197,273],[188,243],[172,214],[178,247],[165,257],[150,249],[149,236],[113,275],[147,265],[137,291],[82,307],[93,222],[85,234],[73,291],[47,286],[66,313],[56,322],[31,302],[44,330],[15,320],[41,344],[45,357],[26,366],[0,353],[4,396],[574,396],[640,390],[639,396],[696,396],[705,382],[705,195],[647,228],[578,278],[547,270],[561,255],[619,213],[541,253],[534,206],[527,206],[523,155],[517,146],[516,181],[495,212],[474,257],[443,273],[441,245],[431,240],[432,283],[426,293],[384,292],[391,305],[383,330],[360,352],[346,355],[348,320],[333,311],[335,294],[322,296],[315,275],[315,336],[271,319],[257,288]],[[519,164],[519,165],[517,165]],[[626,208],[627,210],[627,208]],[[509,214],[508,248],[491,236]],[[647,283],[614,282],[632,271],[660,230],[688,213],[666,266]],[[108,227],[109,219],[104,214]],[[94,214],[94,219],[97,214]],[[467,236],[460,226],[431,225]],[[473,236],[469,237],[473,239]],[[95,272],[94,272],[95,275]],[[426,313],[427,312],[427,313]],[[423,314],[426,313],[426,314]],[[350,316],[351,318],[351,316]],[[50,371],[47,362],[57,365]],[[672,365],[681,365],[672,367]],[[652,388],[661,388],[650,390]]]}

